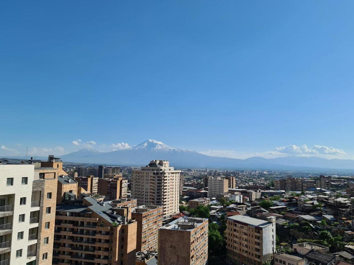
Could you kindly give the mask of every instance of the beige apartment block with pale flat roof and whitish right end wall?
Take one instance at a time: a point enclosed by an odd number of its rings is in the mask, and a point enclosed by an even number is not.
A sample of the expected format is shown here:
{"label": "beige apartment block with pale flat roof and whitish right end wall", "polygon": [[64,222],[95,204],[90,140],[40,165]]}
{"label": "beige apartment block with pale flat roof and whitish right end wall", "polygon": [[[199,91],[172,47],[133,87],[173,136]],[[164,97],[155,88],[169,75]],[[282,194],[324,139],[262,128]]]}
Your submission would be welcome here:
{"label": "beige apartment block with pale flat roof and whitish right end wall", "polygon": [[237,265],[262,265],[275,252],[275,217],[269,222],[243,215],[227,218],[227,261]]}

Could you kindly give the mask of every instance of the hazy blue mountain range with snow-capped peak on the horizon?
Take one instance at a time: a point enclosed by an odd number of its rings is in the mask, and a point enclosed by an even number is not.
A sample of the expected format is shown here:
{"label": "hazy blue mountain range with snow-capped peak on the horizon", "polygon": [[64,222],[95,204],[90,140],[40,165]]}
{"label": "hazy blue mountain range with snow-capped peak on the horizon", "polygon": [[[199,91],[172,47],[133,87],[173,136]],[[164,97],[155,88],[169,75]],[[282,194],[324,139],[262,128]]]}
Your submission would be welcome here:
{"label": "hazy blue mountain range with snow-capped peak on the horizon", "polygon": [[150,160],[169,160],[176,167],[229,167],[279,169],[294,167],[316,167],[330,169],[354,169],[351,159],[324,159],[319,157],[287,156],[266,159],[251,157],[235,159],[211,157],[195,151],[173,148],[156,140],[146,140],[137,146],[112,152],[99,152],[92,147],[62,155],[64,162],[141,166]]}

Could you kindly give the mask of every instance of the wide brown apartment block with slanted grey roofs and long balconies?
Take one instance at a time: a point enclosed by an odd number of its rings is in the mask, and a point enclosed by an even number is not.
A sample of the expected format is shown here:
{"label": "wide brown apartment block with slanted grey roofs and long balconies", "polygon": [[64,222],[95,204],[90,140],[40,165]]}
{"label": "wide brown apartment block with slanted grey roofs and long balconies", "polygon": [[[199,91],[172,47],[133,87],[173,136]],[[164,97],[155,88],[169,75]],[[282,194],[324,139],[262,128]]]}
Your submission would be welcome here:
{"label": "wide brown apartment block with slanted grey roofs and long balconies", "polygon": [[92,197],[57,205],[53,264],[134,265],[137,222],[127,207]]}

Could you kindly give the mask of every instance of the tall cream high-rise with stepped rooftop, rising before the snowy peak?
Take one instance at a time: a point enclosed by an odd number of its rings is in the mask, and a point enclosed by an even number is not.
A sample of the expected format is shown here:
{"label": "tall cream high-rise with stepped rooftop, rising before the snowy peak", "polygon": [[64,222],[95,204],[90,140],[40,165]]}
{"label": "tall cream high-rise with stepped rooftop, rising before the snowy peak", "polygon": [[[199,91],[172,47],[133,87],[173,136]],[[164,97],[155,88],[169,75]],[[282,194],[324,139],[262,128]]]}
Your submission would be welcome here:
{"label": "tall cream high-rise with stepped rooftop, rising before the snowy peak", "polygon": [[179,176],[181,170],[169,166],[169,161],[152,160],[141,170],[133,170],[131,194],[138,205],[161,205],[164,219],[178,213]]}

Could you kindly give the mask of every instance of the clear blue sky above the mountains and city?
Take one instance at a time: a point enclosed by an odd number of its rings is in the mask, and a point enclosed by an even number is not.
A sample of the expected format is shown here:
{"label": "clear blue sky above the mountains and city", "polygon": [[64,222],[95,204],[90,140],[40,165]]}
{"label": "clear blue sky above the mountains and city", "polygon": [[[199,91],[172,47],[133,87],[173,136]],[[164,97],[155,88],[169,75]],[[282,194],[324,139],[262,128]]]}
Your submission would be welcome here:
{"label": "clear blue sky above the mountains and city", "polygon": [[0,155],[156,139],[229,157],[352,158],[353,8],[4,1]]}

